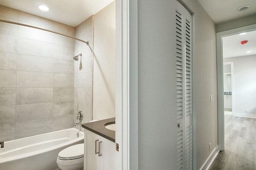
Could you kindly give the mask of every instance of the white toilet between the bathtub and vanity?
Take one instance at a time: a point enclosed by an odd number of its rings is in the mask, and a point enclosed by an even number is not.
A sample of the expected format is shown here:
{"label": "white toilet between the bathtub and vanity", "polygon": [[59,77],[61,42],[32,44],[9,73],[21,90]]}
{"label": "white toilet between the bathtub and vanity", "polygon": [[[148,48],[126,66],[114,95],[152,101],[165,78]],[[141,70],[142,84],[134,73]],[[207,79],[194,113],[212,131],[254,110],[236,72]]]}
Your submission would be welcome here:
{"label": "white toilet between the bathtub and vanity", "polygon": [[72,145],[60,151],[56,162],[62,170],[82,170],[84,167],[84,143]]}

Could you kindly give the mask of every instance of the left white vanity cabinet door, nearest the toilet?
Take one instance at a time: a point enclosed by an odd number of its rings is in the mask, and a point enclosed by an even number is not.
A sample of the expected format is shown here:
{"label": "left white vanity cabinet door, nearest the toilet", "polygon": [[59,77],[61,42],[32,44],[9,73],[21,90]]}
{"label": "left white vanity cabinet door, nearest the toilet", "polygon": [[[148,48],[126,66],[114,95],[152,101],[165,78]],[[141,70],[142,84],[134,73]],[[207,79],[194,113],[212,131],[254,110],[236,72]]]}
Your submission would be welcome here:
{"label": "left white vanity cabinet door, nearest the toilet", "polygon": [[101,161],[98,154],[100,136],[86,131],[86,170],[101,170]]}

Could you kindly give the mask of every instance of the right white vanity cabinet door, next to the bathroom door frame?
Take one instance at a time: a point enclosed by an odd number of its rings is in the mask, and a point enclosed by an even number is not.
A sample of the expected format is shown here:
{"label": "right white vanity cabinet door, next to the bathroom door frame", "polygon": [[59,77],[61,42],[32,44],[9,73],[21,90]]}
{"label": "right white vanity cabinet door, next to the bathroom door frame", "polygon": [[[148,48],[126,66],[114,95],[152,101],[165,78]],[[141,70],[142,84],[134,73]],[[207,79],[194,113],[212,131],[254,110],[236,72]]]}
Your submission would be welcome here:
{"label": "right white vanity cabinet door, next to the bathroom door frame", "polygon": [[104,147],[102,147],[102,165],[104,170],[115,170],[115,143],[101,138]]}

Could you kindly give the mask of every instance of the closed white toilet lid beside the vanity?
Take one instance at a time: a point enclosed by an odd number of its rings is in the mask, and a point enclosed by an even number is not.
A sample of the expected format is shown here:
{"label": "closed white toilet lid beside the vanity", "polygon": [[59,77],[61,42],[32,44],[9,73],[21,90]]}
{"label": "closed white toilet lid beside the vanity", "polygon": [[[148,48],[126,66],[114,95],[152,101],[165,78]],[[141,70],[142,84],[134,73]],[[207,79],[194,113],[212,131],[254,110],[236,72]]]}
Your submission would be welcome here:
{"label": "closed white toilet lid beside the vanity", "polygon": [[58,157],[61,160],[70,160],[84,157],[84,143],[63,149],[59,152]]}

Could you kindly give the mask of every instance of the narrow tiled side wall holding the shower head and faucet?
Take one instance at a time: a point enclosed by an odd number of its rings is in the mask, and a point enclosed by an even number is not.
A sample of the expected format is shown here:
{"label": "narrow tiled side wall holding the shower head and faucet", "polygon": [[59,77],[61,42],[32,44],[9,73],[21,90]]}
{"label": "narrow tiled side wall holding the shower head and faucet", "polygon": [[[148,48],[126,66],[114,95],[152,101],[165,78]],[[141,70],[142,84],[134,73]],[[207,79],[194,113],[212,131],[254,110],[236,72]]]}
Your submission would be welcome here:
{"label": "narrow tiled side wall holding the shower head and faucet", "polygon": [[[81,41],[75,41],[75,55],[82,53],[78,61],[74,61],[74,122],[78,111],[84,113],[82,123],[92,120],[92,39],[93,16],[76,27],[76,38],[89,41],[87,46]],[[83,130],[84,128],[77,127]]]}

